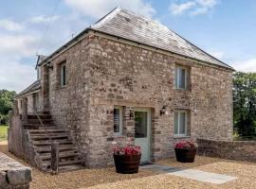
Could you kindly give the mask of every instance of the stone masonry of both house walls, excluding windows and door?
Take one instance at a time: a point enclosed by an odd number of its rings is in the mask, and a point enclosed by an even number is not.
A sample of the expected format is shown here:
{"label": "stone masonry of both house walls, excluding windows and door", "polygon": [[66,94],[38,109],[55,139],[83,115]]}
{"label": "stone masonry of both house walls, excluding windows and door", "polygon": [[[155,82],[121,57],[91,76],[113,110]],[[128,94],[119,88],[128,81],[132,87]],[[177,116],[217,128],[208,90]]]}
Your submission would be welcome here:
{"label": "stone masonry of both house walls, excluding windows and door", "polygon": [[[60,64],[66,63],[66,86]],[[88,33],[51,61],[44,74],[45,105],[55,122],[72,130],[88,167],[113,164],[112,143],[134,143],[137,107],[151,110],[151,159],[174,156],[174,110],[190,114],[186,139],[231,140],[232,72],[171,54]],[[174,89],[174,68],[189,70],[189,89]],[[45,73],[44,73],[45,72]],[[44,78],[44,77],[43,77]],[[44,92],[45,90],[45,92]],[[48,96],[46,96],[48,90]],[[44,101],[44,100],[43,100]],[[114,135],[114,106],[123,109],[123,132]],[[160,115],[163,106],[166,114]]]}

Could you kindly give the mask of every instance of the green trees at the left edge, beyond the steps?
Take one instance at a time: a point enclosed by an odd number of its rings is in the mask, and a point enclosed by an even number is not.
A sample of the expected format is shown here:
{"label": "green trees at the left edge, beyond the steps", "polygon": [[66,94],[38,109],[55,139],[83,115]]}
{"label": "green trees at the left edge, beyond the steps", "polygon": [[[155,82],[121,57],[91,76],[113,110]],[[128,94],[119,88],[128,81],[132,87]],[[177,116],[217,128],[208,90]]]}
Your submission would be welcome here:
{"label": "green trees at the left edge, beyond the steps", "polygon": [[12,109],[16,92],[0,90],[0,124],[7,124],[8,112]]}

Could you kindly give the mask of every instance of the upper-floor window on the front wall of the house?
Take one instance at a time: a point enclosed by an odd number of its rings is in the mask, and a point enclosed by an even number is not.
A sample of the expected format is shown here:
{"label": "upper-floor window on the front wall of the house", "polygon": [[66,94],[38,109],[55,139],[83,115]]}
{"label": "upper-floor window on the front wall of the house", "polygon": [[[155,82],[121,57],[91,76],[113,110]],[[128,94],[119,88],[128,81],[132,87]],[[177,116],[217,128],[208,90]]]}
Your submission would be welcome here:
{"label": "upper-floor window on the front wall of the house", "polygon": [[187,89],[188,69],[182,66],[175,68],[175,88]]}

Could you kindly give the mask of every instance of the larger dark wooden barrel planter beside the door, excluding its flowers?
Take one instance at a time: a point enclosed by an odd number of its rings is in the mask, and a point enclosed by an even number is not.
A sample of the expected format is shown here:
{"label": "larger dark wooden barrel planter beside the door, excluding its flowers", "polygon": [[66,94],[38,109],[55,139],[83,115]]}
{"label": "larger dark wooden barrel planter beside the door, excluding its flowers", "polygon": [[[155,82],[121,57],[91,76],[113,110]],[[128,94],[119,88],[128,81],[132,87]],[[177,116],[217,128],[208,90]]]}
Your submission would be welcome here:
{"label": "larger dark wooden barrel planter beside the door, excluding its flowers", "polygon": [[132,174],[138,172],[141,154],[119,155],[113,154],[117,173]]}

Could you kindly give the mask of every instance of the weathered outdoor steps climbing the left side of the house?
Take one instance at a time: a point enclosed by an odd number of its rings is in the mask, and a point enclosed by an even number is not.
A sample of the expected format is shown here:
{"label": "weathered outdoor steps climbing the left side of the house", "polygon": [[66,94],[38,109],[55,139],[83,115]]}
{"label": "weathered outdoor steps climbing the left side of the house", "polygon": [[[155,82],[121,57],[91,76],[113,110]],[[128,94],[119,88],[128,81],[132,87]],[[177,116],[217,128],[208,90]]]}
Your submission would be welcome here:
{"label": "weathered outdoor steps climbing the left side of the house", "polygon": [[23,129],[27,131],[28,142],[33,150],[34,164],[42,171],[51,172],[51,144],[59,143],[59,171],[71,171],[84,168],[84,161],[70,137],[67,129],[60,129],[54,124],[48,112],[38,116],[27,115],[27,123]]}

